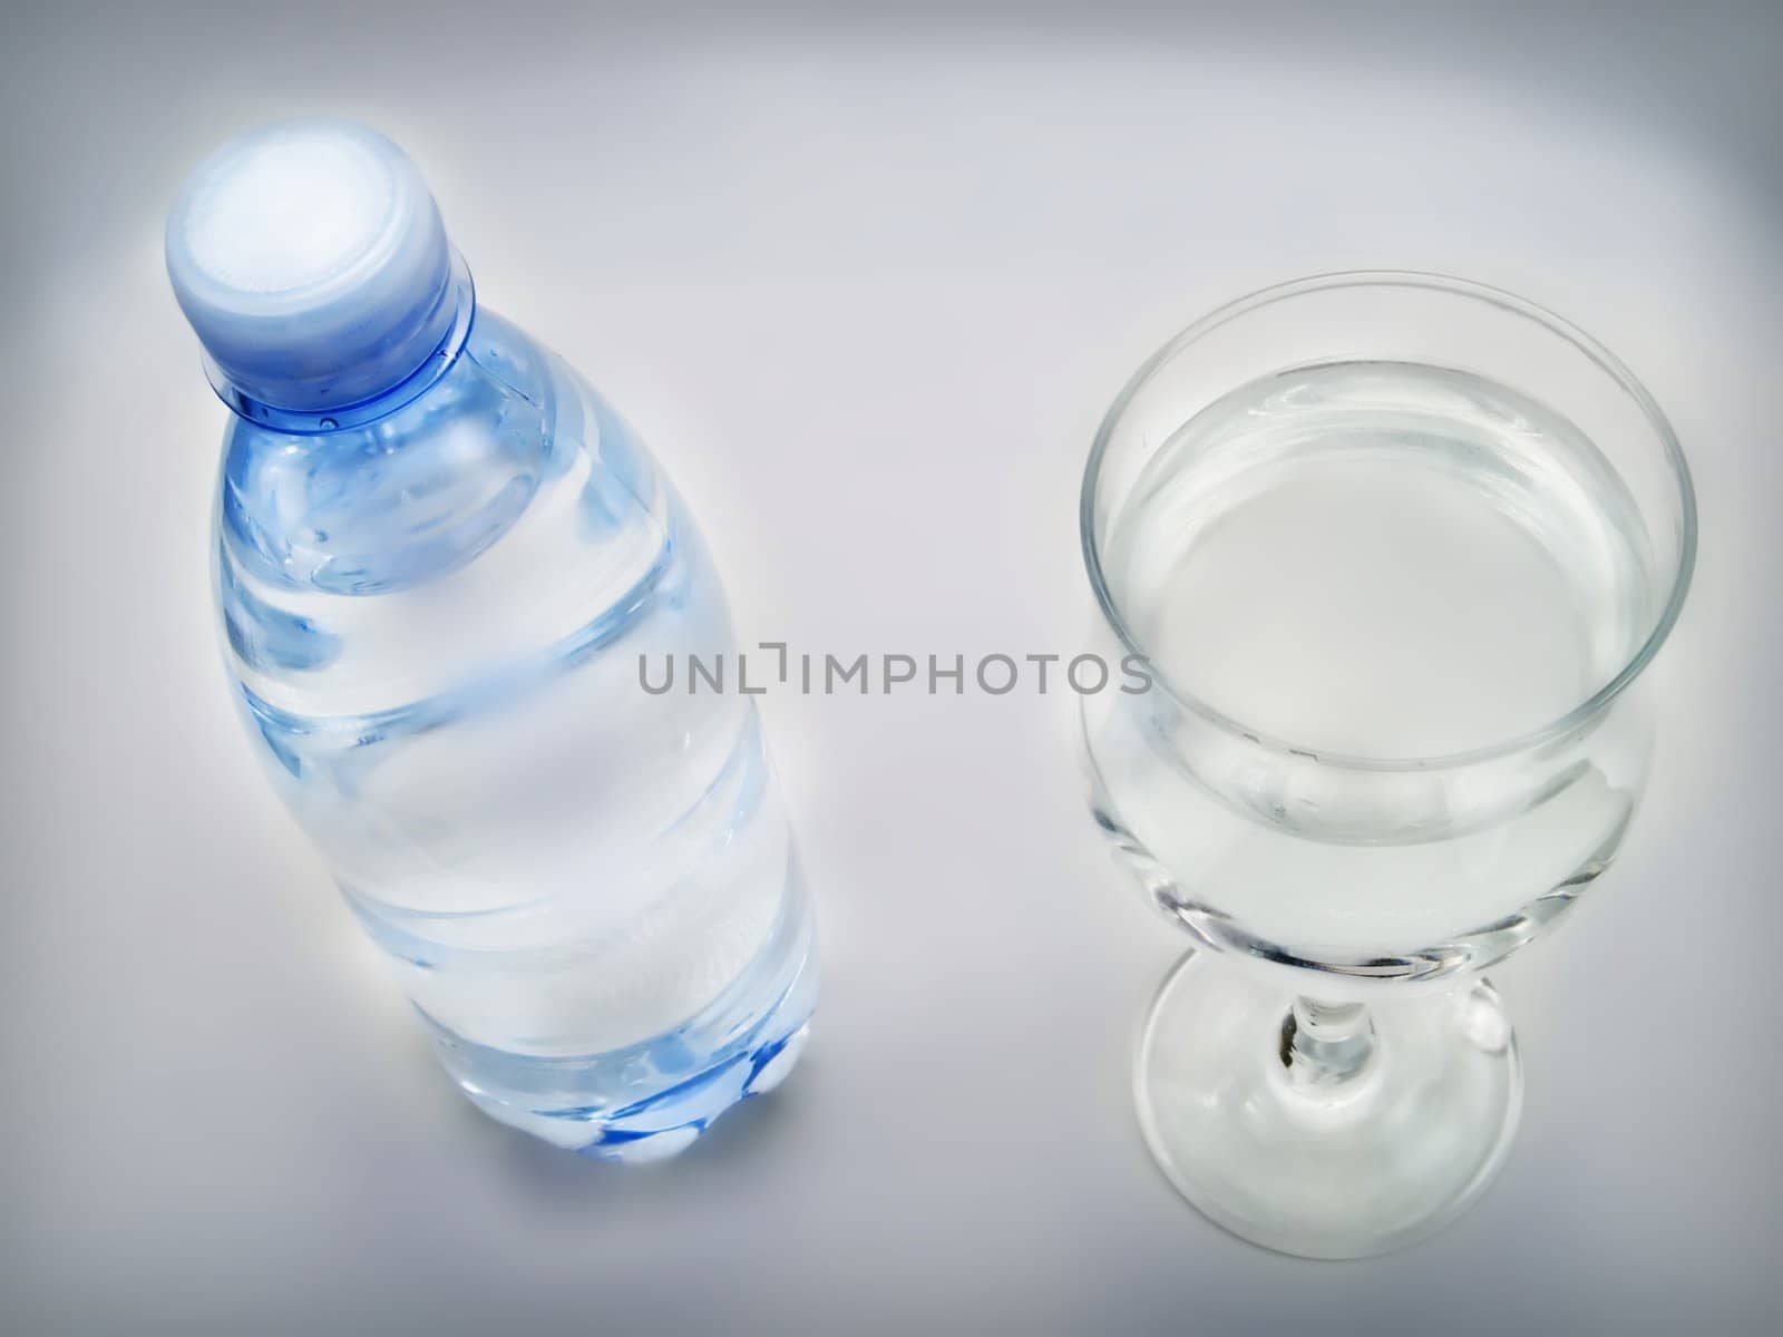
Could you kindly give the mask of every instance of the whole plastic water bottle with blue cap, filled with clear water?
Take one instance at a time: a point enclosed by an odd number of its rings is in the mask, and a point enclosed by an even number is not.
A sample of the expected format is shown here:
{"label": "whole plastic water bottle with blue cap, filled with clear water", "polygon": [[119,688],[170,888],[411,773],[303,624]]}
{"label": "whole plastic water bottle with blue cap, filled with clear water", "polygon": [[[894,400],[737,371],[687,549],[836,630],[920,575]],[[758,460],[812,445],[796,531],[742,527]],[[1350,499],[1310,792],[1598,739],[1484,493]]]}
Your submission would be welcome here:
{"label": "whole plastic water bottle with blue cap, filled with clear water", "polygon": [[168,221],[232,415],[216,590],[242,717],[481,1109],[681,1150],[804,1043],[811,916],[754,702],[644,690],[729,654],[674,490],[480,307],[415,166],[294,121]]}

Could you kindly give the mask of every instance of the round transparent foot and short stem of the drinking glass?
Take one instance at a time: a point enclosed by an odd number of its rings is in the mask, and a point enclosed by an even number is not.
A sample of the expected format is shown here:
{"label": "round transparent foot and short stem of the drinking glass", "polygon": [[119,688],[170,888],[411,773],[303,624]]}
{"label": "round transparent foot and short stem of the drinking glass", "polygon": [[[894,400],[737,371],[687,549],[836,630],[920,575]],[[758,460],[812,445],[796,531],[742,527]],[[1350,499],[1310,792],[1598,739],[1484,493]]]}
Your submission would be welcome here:
{"label": "round transparent foot and short stem of the drinking glass", "polygon": [[1282,1253],[1360,1259],[1485,1191],[1523,1068],[1485,980],[1364,1011],[1296,1004],[1191,952],[1145,1020],[1134,1095],[1152,1155],[1204,1216]]}

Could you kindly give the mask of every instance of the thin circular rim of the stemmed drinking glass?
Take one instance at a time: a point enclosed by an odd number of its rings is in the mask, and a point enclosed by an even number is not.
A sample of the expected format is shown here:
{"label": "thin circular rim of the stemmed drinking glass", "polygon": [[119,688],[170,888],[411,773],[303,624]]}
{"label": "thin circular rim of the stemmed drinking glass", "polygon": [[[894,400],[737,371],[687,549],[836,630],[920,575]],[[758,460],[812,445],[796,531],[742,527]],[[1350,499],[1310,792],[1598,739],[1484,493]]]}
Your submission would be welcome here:
{"label": "thin circular rim of the stemmed drinking glass", "polygon": [[[1653,622],[1653,629],[1647,633],[1646,640],[1630,654],[1623,667],[1599,688],[1596,688],[1589,697],[1574,704],[1558,718],[1549,724],[1542,724],[1535,729],[1514,734],[1510,738],[1485,743],[1482,747],[1473,747],[1460,752],[1442,752],[1435,756],[1423,758],[1391,758],[1391,756],[1360,756],[1334,752],[1318,747],[1302,747],[1293,740],[1278,738],[1264,729],[1255,729],[1243,720],[1237,720],[1225,711],[1216,710],[1209,702],[1196,697],[1193,692],[1184,692],[1163,672],[1163,668],[1152,661],[1145,645],[1134,635],[1132,627],[1127,624],[1120,604],[1114,599],[1113,590],[1109,590],[1107,578],[1102,569],[1102,545],[1097,538],[1097,499],[1100,496],[1100,476],[1102,462],[1107,456],[1109,444],[1114,439],[1114,431],[1127,414],[1127,408],[1138,398],[1157,371],[1177,357],[1189,344],[1200,340],[1202,337],[1212,333],[1228,321],[1246,316],[1262,307],[1284,301],[1287,298],[1305,296],[1309,292],[1321,292],[1327,289],[1344,289],[1344,287],[1412,287],[1426,289],[1434,292],[1446,292],[1458,298],[1471,298],[1475,301],[1485,301],[1489,305],[1508,310],[1516,316],[1533,321],[1544,326],[1548,332],[1565,339],[1569,344],[1578,348],[1590,362],[1594,362],[1603,373],[1606,373],[1640,408],[1647,424],[1656,433],[1660,446],[1665,453],[1665,460],[1671,465],[1672,478],[1678,487],[1678,506],[1680,506],[1680,542],[1678,558],[1672,569],[1671,590],[1665,595],[1665,606],[1662,608],[1658,619]],[[1095,590],[1097,604],[1102,617],[1114,629],[1123,649],[1129,654],[1136,654],[1152,668],[1154,686],[1164,692],[1177,706],[1200,717],[1202,720],[1212,724],[1227,733],[1236,733],[1250,738],[1259,747],[1266,747],[1280,754],[1294,754],[1307,758],[1323,765],[1341,767],[1348,770],[1382,770],[1382,772],[1400,772],[1400,770],[1439,770],[1467,767],[1480,761],[1492,761],[1496,758],[1512,756],[1517,752],[1526,752],[1542,743],[1558,738],[1562,734],[1573,733],[1574,729],[1587,724],[1592,717],[1601,713],[1615,697],[1633,683],[1640,672],[1653,661],[1658,654],[1660,645],[1671,635],[1672,626],[1678,622],[1678,615],[1683,610],[1685,595],[1690,590],[1690,578],[1696,570],[1696,487],[1690,481],[1690,465],[1685,460],[1683,447],[1678,444],[1678,437],[1665,419],[1665,414],[1655,403],[1653,396],[1640,380],[1628,369],[1628,365],[1617,358],[1608,348],[1598,342],[1594,337],[1585,333],[1582,328],[1571,321],[1553,314],[1546,307],[1539,307],[1533,301],[1516,296],[1514,292],[1505,292],[1503,289],[1491,287],[1487,283],[1476,283],[1467,278],[1453,278],[1450,275],[1425,273],[1416,269],[1346,269],[1323,275],[1311,275],[1307,278],[1294,278],[1286,283],[1271,283],[1269,287],[1257,289],[1228,301],[1207,316],[1200,317],[1186,330],[1170,339],[1163,348],[1159,348],[1152,357],[1148,357],[1139,369],[1129,378],[1122,387],[1114,403],[1102,415],[1102,424],[1097,428],[1095,444],[1089,447],[1089,460],[1084,465],[1084,483],[1079,496],[1079,537],[1084,551],[1084,567],[1089,572],[1089,586]]]}

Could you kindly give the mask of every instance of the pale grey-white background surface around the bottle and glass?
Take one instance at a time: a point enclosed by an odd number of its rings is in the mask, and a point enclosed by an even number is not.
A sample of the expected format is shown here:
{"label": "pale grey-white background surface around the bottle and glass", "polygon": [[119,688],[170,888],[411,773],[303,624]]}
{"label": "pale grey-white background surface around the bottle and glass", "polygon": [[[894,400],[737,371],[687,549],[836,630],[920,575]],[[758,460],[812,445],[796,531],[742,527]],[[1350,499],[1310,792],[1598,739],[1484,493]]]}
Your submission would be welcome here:
{"label": "pale grey-white background surface around the bottle and glass", "polygon": [[[1744,1332],[1774,1111],[1778,11],[11,7],[0,36],[0,1323],[130,1332]],[[642,430],[745,642],[1063,652],[1130,371],[1309,271],[1605,339],[1701,492],[1624,863],[1498,972],[1503,1178],[1355,1266],[1204,1223],[1132,1030],[1184,941],[1084,816],[1064,695],[765,699],[826,939],[772,1100],[638,1173],[458,1100],[226,706],[223,408],[180,176],[378,125],[480,296]]]}

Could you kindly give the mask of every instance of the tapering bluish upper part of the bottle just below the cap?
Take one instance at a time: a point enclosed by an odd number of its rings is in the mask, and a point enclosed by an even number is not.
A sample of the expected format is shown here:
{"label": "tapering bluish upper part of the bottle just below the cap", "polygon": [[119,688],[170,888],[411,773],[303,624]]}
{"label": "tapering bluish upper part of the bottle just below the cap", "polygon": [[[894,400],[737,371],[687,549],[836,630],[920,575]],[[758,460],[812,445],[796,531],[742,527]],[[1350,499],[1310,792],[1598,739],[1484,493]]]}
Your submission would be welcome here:
{"label": "tapering bluish upper part of the bottle just below the cap", "polygon": [[638,437],[560,358],[480,312],[430,392],[351,430],[232,424],[216,594],[232,668],[300,715],[376,711],[606,644],[722,590]]}

